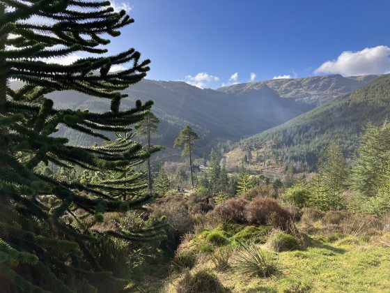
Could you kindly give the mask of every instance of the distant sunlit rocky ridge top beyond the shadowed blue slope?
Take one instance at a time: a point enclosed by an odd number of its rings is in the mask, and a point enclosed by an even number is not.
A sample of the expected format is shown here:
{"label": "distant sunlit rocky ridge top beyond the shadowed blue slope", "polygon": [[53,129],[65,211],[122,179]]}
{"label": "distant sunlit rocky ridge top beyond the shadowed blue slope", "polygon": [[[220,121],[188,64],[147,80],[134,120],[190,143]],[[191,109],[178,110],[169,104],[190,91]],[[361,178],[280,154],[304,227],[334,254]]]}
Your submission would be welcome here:
{"label": "distant sunlit rocky ridge top beyond the shadowed blue slope", "polygon": [[304,103],[320,105],[327,100],[350,93],[364,84],[375,80],[377,75],[362,75],[343,77],[341,75],[325,75],[305,78],[289,78],[265,80],[262,82],[248,82],[221,87],[219,91],[225,93],[244,93],[255,91],[265,84],[276,91],[282,98],[293,98]]}

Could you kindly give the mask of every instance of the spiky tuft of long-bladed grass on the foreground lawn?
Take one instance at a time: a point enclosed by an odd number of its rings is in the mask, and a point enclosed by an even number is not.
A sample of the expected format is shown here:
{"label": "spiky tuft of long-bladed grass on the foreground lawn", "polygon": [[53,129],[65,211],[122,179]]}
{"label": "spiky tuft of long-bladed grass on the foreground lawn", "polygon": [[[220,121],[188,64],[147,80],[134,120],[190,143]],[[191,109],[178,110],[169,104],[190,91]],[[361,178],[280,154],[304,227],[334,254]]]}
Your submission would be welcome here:
{"label": "spiky tuft of long-bladed grass on the foreground lawn", "polygon": [[241,244],[237,252],[235,269],[244,275],[267,278],[279,271],[276,255],[255,244]]}

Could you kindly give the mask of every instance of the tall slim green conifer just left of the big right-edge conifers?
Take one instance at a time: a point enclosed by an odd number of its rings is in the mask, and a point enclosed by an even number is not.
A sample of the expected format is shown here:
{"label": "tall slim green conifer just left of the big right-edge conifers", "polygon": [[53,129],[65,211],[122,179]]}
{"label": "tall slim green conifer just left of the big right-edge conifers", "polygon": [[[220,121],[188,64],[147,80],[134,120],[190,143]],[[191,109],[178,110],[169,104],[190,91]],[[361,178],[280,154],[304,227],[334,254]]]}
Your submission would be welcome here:
{"label": "tall slim green conifer just left of the big right-edge conifers", "polygon": [[330,210],[343,209],[343,191],[347,179],[347,167],[341,148],[331,142],[320,156],[318,172],[322,174],[327,188],[327,203]]}

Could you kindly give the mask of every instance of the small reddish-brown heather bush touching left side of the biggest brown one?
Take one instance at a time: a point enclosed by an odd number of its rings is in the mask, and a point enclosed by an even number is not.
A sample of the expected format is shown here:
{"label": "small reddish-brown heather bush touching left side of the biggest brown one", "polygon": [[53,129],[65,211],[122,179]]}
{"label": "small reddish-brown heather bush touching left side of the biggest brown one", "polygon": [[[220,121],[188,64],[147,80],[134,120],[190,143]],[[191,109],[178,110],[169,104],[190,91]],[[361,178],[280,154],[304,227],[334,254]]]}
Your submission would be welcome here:
{"label": "small reddish-brown heather bush touching left side of the biggest brown one", "polygon": [[214,213],[221,220],[228,222],[233,220],[236,223],[246,223],[246,211],[248,201],[242,198],[227,200],[223,204],[219,204],[215,209]]}

